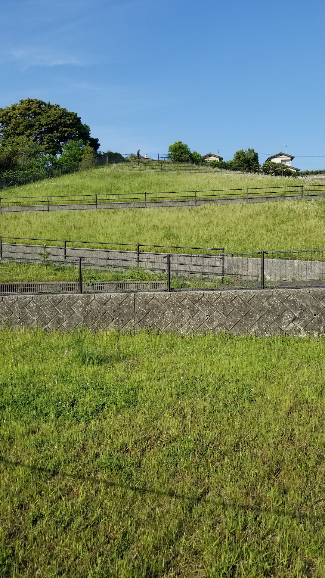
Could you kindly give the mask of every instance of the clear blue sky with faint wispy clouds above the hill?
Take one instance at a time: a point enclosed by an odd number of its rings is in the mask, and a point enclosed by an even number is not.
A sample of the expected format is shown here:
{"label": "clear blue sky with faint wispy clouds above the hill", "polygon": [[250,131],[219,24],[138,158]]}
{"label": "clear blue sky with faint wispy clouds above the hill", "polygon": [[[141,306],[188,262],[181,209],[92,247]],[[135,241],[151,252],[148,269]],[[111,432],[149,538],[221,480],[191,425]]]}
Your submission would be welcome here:
{"label": "clear blue sky with faint wispy clouds above the hill", "polygon": [[324,168],[324,16],[324,0],[2,0],[0,106],[57,102],[101,150],[287,146]]}

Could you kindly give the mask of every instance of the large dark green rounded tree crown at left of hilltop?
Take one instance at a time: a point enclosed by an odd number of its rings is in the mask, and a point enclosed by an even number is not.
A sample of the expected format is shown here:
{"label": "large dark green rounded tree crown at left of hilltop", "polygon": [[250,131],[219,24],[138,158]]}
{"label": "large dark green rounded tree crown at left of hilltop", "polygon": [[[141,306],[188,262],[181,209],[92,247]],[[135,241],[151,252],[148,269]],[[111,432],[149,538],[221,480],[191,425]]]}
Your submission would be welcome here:
{"label": "large dark green rounded tree crown at left of hilltop", "polygon": [[99,147],[98,139],[90,136],[90,128],[82,124],[77,113],[37,98],[0,108],[0,144],[8,146],[23,137],[32,139],[50,155],[61,154],[68,140],[89,142],[95,151]]}

